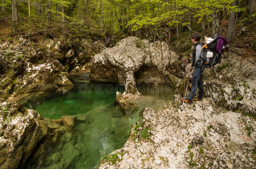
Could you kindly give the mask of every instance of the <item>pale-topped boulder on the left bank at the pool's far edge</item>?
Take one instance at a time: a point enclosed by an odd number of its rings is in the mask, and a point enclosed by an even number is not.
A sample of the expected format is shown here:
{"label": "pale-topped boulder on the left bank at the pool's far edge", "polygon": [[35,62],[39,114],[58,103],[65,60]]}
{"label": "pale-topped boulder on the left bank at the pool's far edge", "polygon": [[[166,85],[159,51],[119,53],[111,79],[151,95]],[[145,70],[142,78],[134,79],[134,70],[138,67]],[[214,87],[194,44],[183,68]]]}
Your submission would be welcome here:
{"label": "pale-topped boulder on the left bank at the pool's far edge", "polygon": [[9,86],[2,88],[0,93],[6,98],[36,91],[54,91],[58,86],[73,86],[68,79],[68,73],[63,71],[63,65],[53,59],[40,65],[27,63],[26,69],[20,75],[5,73],[1,83],[3,86]]}

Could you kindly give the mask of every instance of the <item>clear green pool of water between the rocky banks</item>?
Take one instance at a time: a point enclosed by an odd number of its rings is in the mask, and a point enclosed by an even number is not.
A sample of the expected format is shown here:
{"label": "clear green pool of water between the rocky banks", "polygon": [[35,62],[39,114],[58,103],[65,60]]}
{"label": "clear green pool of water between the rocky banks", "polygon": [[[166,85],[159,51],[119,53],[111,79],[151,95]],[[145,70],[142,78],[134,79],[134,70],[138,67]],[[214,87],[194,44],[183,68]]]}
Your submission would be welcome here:
{"label": "clear green pool of water between the rocky banks", "polygon": [[[43,169],[93,169],[97,168],[102,155],[123,147],[138,113],[146,106],[157,109],[170,103],[172,94],[145,94],[138,111],[125,114],[114,105],[115,93],[104,89],[91,89],[81,93],[77,86],[89,82],[88,73],[75,74],[71,80],[75,88],[63,88],[54,93],[36,94],[23,99],[24,106],[34,108],[44,118],[59,119],[61,116],[76,116],[72,130],[63,133],[55,145],[48,145],[49,151],[43,161],[35,161]],[[105,85],[103,85],[105,86]],[[119,88],[123,92],[123,88]],[[103,93],[99,93],[103,91]]]}

